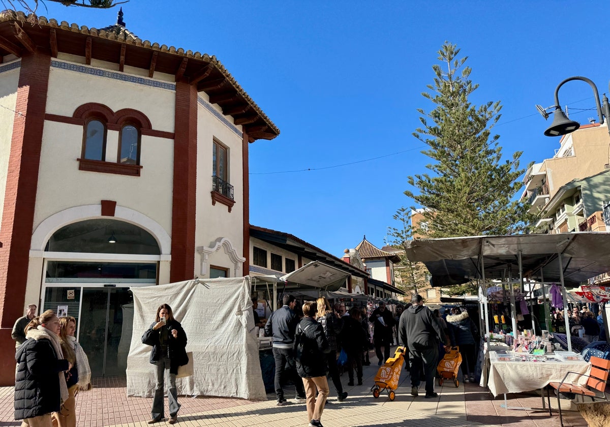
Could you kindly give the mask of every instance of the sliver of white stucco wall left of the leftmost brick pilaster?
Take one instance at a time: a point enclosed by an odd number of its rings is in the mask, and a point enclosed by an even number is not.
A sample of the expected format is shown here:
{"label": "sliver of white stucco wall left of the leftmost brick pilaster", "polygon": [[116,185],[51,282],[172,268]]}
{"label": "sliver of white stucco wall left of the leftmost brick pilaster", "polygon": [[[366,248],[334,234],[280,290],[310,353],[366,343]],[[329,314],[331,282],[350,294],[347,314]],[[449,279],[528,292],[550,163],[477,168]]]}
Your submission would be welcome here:
{"label": "sliver of white stucco wall left of the leftmost brick pilaster", "polygon": [[[0,64],[0,69],[7,65]],[[10,142],[13,135],[20,70],[21,68],[18,67],[0,73],[0,218],[4,212],[4,193],[9,170]]]}

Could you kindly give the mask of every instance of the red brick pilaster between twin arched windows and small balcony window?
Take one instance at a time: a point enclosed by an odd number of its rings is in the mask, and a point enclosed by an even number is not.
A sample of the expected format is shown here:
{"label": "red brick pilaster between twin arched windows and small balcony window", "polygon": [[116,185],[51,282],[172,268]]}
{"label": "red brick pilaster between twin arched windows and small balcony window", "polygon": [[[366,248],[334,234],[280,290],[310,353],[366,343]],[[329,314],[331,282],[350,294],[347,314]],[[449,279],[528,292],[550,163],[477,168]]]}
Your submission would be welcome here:
{"label": "red brick pilaster between twin arched windows and small balcony window", "polygon": [[173,179],[170,281],[179,282],[195,276],[197,88],[184,81],[176,82]]}

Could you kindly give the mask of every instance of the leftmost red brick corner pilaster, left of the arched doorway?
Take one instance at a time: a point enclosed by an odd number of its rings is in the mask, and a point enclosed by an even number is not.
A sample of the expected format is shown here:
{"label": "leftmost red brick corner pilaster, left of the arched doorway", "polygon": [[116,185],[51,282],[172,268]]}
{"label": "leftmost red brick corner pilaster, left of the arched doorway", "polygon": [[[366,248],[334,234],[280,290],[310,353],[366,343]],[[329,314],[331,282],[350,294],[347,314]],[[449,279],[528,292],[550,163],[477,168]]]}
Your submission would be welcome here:
{"label": "leftmost red brick corner pilaster, left of the arched doorway", "polygon": [[[0,241],[0,386],[15,384],[15,320],[24,315],[51,56],[21,58]],[[9,285],[10,284],[10,285]]]}

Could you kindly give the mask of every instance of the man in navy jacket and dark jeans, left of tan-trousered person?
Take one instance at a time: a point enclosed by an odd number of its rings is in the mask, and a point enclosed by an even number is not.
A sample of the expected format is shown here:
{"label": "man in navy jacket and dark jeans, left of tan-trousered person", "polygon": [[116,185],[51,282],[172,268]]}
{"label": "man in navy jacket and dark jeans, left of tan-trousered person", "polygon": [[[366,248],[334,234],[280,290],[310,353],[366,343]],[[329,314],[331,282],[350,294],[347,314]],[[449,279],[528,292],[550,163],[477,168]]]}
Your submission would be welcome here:
{"label": "man in navy jacket and dark jeans, left of tan-trousered person", "polygon": [[305,389],[303,381],[296,373],[295,357],[293,354],[293,341],[295,339],[296,325],[299,318],[293,311],[296,306],[296,299],[292,295],[284,295],[282,298],[284,306],[271,314],[265,324],[265,336],[273,337],[273,359],[275,359],[275,392],[278,395],[278,406],[282,406],[287,401],[284,399],[284,389],[282,389],[281,378],[284,367],[288,365],[287,374],[290,376],[296,388],[296,400],[305,400]]}

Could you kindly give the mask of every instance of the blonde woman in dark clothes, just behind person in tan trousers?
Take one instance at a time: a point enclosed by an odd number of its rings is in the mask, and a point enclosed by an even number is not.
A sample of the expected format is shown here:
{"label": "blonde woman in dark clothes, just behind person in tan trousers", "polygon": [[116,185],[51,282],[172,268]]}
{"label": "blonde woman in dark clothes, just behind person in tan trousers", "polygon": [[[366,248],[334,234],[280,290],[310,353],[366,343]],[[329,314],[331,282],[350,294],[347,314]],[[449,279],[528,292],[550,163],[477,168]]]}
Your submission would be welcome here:
{"label": "blonde woman in dark clothes, just behind person in tan trousers", "polygon": [[337,367],[337,351],[339,350],[337,339],[343,329],[343,320],[332,311],[331,303],[328,302],[325,296],[320,296],[315,302],[318,306],[316,318],[324,329],[328,348],[330,349],[329,353],[325,354],[326,362],[328,363],[328,375],[332,379],[335,390],[337,390],[337,400],[342,401],[347,397],[347,392],[343,391],[339,367]]}

